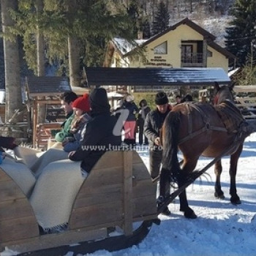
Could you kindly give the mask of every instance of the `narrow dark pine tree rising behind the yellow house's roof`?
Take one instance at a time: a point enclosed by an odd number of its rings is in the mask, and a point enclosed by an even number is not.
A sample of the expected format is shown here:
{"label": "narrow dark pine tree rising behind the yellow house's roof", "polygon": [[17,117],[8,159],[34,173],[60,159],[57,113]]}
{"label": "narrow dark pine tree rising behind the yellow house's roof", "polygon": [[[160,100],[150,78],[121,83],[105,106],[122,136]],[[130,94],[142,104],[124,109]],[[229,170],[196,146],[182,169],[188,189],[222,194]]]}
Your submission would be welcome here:
{"label": "narrow dark pine tree rising behind the yellow house's roof", "polygon": [[158,34],[169,26],[170,15],[163,1],[157,7],[157,14],[153,22],[153,34]]}

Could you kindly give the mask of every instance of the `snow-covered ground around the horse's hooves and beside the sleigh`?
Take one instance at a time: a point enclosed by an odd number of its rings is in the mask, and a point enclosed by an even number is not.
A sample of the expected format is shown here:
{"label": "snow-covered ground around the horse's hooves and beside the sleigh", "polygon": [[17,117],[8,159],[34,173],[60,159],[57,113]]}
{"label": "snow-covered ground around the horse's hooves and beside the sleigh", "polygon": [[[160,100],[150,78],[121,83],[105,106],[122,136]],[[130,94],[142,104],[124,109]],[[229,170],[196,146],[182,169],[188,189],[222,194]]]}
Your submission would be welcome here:
{"label": "snow-covered ground around the horse's hooves and beside the sleigh", "polygon": [[[148,165],[148,154],[140,152]],[[209,159],[200,159],[204,167]],[[229,157],[222,159],[222,190],[225,200],[214,198],[214,168],[208,176],[187,189],[189,204],[197,219],[185,219],[178,199],[171,203],[170,217],[159,215],[161,224],[153,225],[138,245],[118,252],[97,251],[86,256],[241,256],[256,255],[256,133],[246,138],[238,162],[237,189],[241,205],[229,201]],[[66,256],[72,256],[69,252]],[[82,256],[82,255],[80,255]]]}

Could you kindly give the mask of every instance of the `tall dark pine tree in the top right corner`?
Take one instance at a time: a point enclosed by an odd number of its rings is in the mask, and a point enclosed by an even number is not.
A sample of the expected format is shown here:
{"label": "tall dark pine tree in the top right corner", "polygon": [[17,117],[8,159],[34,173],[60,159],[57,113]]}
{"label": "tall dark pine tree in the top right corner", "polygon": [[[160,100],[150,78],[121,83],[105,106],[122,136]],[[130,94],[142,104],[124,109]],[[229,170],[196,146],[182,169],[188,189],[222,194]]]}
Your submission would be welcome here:
{"label": "tall dark pine tree in the top right corner", "polygon": [[238,67],[246,64],[251,42],[256,38],[256,0],[236,0],[234,19],[226,29],[226,48],[238,57]]}

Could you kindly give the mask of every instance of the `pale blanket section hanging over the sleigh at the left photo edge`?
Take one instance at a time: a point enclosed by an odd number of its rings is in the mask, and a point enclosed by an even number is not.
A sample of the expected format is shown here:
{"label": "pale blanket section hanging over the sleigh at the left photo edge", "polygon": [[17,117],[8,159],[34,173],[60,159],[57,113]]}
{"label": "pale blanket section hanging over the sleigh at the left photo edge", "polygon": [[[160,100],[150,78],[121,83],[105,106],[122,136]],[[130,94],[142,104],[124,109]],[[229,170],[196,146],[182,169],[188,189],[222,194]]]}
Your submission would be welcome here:
{"label": "pale blanket section hanging over the sleigh at the left photo edge", "polygon": [[0,167],[18,184],[18,187],[26,196],[30,195],[36,183],[36,178],[29,167],[12,157],[5,157]]}

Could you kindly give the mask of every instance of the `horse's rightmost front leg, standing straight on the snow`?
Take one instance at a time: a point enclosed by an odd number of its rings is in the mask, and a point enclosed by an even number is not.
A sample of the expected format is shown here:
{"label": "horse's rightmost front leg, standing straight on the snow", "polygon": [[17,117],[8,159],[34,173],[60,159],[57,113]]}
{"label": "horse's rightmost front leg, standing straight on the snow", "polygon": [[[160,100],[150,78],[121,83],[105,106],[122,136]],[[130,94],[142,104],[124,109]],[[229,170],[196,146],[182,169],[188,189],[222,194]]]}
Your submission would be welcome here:
{"label": "horse's rightmost front leg, standing straight on the snow", "polygon": [[243,144],[239,146],[238,150],[230,157],[230,202],[237,205],[241,203],[240,198],[236,193],[236,170],[238,165],[238,159],[243,150]]}

